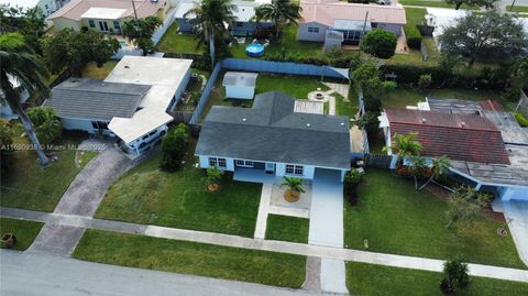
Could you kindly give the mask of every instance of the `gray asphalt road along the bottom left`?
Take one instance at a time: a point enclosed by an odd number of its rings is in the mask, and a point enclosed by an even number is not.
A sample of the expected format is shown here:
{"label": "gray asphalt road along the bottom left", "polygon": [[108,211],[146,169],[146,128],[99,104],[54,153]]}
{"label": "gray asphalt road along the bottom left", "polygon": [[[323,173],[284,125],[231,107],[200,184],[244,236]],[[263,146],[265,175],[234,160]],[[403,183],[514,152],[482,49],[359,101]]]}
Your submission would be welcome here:
{"label": "gray asphalt road along the bottom left", "polygon": [[18,296],[308,296],[249,284],[0,250],[0,295]]}

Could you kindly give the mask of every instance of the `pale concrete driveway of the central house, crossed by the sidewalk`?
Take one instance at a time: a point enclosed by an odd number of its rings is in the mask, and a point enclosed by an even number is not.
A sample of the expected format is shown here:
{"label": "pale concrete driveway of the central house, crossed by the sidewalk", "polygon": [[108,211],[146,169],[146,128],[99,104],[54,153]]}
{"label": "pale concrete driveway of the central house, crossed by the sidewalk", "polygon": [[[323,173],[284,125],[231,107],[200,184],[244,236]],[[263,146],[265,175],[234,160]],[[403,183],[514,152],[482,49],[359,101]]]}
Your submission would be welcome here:
{"label": "pale concrete driveway of the central house, crossed by the sidewalk", "polygon": [[[316,168],[308,243],[343,248],[343,184],[339,171]],[[320,275],[322,290],[349,293],[344,261],[321,259]]]}

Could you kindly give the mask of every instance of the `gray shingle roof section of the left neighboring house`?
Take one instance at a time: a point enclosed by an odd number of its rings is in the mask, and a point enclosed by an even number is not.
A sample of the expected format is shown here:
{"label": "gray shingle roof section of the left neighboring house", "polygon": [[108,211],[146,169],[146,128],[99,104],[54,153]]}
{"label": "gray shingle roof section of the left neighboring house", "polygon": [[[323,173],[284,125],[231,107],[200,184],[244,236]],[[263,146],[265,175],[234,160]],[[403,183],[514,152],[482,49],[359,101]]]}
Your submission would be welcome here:
{"label": "gray shingle roof section of the left neighboring house", "polygon": [[103,83],[86,78],[69,78],[52,90],[44,105],[59,118],[108,120],[131,118],[150,86]]}

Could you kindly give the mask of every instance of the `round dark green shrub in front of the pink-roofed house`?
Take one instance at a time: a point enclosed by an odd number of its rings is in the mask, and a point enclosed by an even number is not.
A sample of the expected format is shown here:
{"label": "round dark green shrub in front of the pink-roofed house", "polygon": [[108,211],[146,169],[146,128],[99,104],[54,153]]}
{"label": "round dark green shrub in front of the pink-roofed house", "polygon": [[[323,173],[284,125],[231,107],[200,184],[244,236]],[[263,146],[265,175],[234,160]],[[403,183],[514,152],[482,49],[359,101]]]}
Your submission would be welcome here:
{"label": "round dark green shrub in front of the pink-roofed house", "polygon": [[389,58],[396,50],[397,37],[393,32],[374,29],[361,40],[362,51],[381,58]]}

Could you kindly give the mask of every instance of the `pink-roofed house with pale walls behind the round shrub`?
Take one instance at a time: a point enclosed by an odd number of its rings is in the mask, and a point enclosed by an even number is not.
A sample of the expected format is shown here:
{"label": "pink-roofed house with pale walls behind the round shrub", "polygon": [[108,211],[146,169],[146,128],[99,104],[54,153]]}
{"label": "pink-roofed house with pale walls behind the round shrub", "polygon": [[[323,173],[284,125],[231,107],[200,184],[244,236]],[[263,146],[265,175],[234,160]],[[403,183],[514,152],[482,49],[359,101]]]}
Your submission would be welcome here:
{"label": "pink-roofed house with pale walls behind the round shrub", "polygon": [[405,9],[399,4],[360,4],[337,0],[301,0],[298,40],[324,42],[324,48],[356,45],[364,33],[383,29],[402,34]]}

